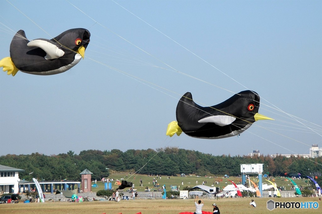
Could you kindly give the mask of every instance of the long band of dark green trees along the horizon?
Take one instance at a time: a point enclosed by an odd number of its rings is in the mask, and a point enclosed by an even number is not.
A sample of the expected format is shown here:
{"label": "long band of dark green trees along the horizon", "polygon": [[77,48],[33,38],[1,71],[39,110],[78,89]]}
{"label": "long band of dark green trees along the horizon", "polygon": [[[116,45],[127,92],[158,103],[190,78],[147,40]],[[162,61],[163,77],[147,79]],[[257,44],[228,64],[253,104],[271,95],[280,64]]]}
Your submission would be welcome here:
{"label": "long band of dark green trees along the horizon", "polygon": [[90,170],[93,179],[108,177],[110,170],[131,171],[138,174],[197,174],[200,176],[238,176],[240,164],[263,164],[263,174],[269,176],[321,176],[322,158],[303,158],[291,156],[289,158],[277,155],[260,156],[213,156],[194,150],[166,147],[122,152],[118,149],[110,151],[83,150],[80,154],[73,151],[67,154],[43,155],[5,155],[0,156],[0,165],[24,169],[19,173],[20,179],[27,181],[33,177],[40,180],[81,180],[80,173],[84,169]]}

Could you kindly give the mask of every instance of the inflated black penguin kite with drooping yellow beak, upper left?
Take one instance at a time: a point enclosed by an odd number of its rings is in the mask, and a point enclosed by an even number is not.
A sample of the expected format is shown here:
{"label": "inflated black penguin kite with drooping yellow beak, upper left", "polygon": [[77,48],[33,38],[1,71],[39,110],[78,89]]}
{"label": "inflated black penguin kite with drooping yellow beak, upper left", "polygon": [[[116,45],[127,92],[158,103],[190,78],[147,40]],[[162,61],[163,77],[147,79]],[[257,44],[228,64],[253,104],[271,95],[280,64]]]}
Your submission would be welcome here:
{"label": "inflated black penguin kite with drooping yellow beak, upper left", "polygon": [[84,28],[67,30],[51,40],[31,41],[20,30],[11,41],[10,57],[1,59],[0,67],[12,76],[18,70],[35,75],[60,74],[84,58],[89,42],[90,32]]}

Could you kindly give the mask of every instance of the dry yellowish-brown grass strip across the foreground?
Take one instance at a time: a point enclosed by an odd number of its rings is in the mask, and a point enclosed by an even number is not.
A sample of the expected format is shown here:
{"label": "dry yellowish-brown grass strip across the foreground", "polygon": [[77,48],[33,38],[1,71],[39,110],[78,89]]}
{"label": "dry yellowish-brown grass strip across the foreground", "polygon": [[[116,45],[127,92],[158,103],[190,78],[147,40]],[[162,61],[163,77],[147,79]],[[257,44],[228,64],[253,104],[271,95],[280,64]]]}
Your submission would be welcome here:
{"label": "dry yellowish-brown grass strip across the foreground", "polygon": [[[255,198],[257,207],[249,205],[250,198],[223,198],[220,201],[203,199],[204,211],[212,211],[213,203],[217,203],[221,213],[321,213],[322,205],[318,209],[267,209],[268,198]],[[273,201],[317,202],[317,198],[273,198]],[[45,202],[45,203],[18,203],[1,204],[0,213],[93,213],[93,214],[177,214],[180,212],[194,212],[194,199],[178,200],[128,200],[128,201],[91,201],[82,203]]]}

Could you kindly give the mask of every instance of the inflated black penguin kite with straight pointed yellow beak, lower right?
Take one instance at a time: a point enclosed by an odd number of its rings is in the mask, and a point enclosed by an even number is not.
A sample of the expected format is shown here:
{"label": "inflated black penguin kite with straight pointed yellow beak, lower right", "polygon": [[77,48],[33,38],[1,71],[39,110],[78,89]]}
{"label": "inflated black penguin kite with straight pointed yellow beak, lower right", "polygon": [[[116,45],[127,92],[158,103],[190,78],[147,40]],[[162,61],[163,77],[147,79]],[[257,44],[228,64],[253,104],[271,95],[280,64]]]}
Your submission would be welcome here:
{"label": "inflated black penguin kite with straight pointed yellow beak, lower right", "polygon": [[242,91],[223,103],[202,107],[190,92],[185,93],[176,108],[176,119],[168,125],[166,135],[182,132],[195,138],[218,139],[239,135],[257,120],[274,120],[258,113],[260,97],[253,91]]}

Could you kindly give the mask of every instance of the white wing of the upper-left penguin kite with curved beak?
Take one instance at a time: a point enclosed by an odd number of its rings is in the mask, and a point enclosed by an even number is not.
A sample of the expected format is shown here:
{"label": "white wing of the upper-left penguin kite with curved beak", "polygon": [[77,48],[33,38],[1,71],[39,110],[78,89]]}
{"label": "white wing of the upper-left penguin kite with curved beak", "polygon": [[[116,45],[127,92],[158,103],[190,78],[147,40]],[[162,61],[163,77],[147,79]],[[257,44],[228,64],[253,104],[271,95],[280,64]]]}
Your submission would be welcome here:
{"label": "white wing of the upper-left penguin kite with curved beak", "polygon": [[43,49],[47,53],[45,59],[57,59],[64,55],[62,49],[59,49],[56,45],[46,40],[32,40],[28,42],[27,46]]}

